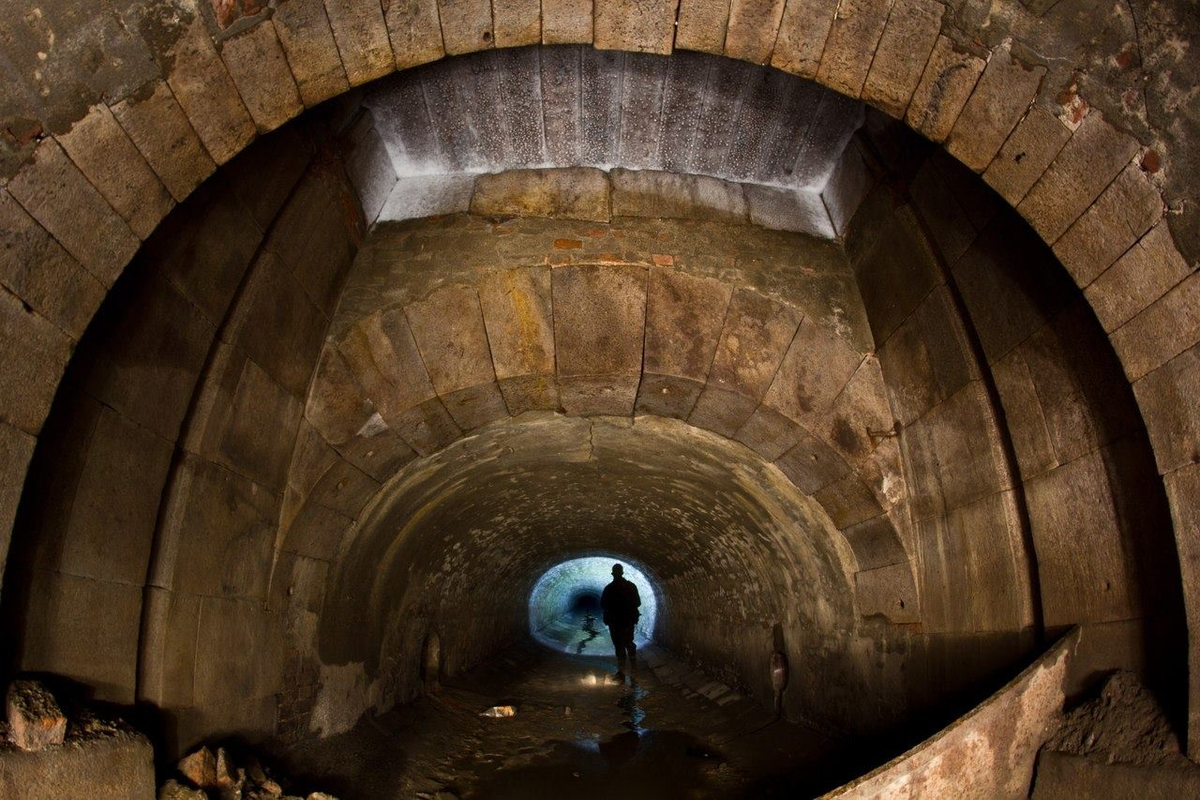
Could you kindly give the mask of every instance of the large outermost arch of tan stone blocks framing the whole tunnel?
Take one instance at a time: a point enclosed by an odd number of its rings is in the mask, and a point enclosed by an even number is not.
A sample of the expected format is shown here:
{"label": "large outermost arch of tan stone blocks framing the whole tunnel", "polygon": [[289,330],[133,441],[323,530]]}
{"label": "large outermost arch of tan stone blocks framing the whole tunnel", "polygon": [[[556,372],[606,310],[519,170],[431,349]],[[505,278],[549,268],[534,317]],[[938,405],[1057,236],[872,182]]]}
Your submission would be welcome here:
{"label": "large outermost arch of tan stone blocks framing the whole tunnel", "polygon": [[[498,0],[494,13],[478,1],[394,2],[384,12],[365,0],[288,0],[271,18],[221,20],[218,48],[208,12],[193,6],[191,20],[156,46],[157,78],[136,92],[114,92],[122,100],[92,107],[70,130],[49,125],[53,136],[0,190],[5,282],[13,293],[4,297],[2,323],[12,348],[0,441],[12,499],[2,527],[11,527],[54,387],[107,289],[172,205],[257,133],[442,55],[538,42],[648,53],[679,47],[769,62],[902,116],[982,173],[1055,248],[1141,404],[1194,606],[1200,434],[1188,398],[1200,383],[1200,282],[1166,227],[1140,143],[1099,112],[1082,115],[1086,102],[1070,92],[1060,106],[1058,88],[1026,68],[1018,48],[956,42],[942,29],[940,4],[840,7],[732,2],[721,22],[700,4],[670,0],[648,8],[547,2],[540,18],[535,7]],[[1037,25],[1030,17],[1026,29]],[[1194,608],[1189,630],[1195,640]],[[1200,676],[1190,685],[1195,752]]]}

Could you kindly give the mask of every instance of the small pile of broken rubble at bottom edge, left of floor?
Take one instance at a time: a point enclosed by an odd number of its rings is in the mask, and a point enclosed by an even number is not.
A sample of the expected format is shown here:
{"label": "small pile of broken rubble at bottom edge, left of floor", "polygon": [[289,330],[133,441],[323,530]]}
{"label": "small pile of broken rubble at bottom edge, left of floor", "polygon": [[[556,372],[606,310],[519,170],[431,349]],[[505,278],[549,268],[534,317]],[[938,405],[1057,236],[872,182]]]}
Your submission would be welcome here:
{"label": "small pile of broken rubble at bottom edge, left of floor", "polygon": [[337,800],[324,792],[289,794],[284,786],[253,756],[200,747],[180,759],[179,777],[162,784],[158,800]]}

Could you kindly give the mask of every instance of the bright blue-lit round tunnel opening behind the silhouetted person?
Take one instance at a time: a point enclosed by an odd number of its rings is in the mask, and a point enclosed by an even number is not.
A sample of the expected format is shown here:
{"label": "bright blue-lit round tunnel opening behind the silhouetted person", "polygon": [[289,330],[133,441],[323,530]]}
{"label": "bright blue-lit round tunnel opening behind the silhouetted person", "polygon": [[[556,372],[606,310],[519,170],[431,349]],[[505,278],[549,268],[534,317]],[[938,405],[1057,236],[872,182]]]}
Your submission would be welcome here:
{"label": "bright blue-lit round tunnel opening behind the silhouetted person", "polygon": [[529,594],[529,633],[548,648],[587,656],[611,656],[600,595],[620,564],[637,587],[641,616],[634,628],[637,646],[649,644],[658,620],[659,593],[646,571],[619,555],[589,555],[546,570]]}

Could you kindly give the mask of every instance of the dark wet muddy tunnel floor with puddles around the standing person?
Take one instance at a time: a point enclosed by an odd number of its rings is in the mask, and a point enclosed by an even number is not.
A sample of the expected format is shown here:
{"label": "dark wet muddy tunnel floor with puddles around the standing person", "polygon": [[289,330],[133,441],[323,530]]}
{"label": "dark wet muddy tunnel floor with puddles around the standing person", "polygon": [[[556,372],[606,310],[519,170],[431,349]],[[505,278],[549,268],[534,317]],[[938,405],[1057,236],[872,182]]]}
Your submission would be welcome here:
{"label": "dark wet muddy tunnel floor with puddles around the standing person", "polygon": [[[437,694],[281,760],[344,799],[811,796],[856,774],[821,732],[678,684],[667,663],[682,666],[653,645],[617,684],[611,656],[587,655],[610,646],[596,628],[584,655],[521,643]],[[514,717],[482,716],[509,704]]]}

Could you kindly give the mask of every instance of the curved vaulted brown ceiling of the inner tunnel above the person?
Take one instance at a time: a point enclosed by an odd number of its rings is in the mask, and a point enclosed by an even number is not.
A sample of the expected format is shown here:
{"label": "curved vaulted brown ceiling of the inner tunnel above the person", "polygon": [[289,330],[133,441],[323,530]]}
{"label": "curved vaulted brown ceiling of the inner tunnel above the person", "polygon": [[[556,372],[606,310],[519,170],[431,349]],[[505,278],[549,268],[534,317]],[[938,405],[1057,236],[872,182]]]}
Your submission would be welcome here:
{"label": "curved vaulted brown ceiling of the inner tunnel above the person", "polygon": [[373,675],[397,620],[450,626],[511,606],[520,618],[545,570],[602,552],[646,565],[667,615],[702,615],[707,602],[746,620],[853,626],[848,546],[749,449],[678,420],[530,411],[413,462],[380,489],[342,545],[322,658],[365,662]]}

